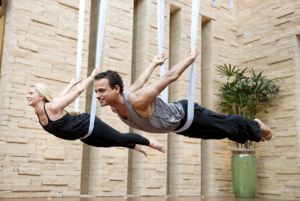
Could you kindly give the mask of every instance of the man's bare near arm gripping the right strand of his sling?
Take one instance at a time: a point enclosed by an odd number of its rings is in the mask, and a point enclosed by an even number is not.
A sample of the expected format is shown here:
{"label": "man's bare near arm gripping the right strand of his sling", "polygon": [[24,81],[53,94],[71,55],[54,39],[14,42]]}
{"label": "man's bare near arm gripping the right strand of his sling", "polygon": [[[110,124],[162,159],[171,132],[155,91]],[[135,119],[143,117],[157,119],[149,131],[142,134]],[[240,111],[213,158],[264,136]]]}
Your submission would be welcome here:
{"label": "man's bare near arm gripping the right strand of his sling", "polygon": [[151,102],[166,88],[170,83],[176,81],[179,76],[190,66],[198,56],[198,47],[195,46],[190,52],[189,57],[176,64],[162,78],[156,80],[150,85],[130,94],[130,101],[134,108],[143,110],[149,107]]}

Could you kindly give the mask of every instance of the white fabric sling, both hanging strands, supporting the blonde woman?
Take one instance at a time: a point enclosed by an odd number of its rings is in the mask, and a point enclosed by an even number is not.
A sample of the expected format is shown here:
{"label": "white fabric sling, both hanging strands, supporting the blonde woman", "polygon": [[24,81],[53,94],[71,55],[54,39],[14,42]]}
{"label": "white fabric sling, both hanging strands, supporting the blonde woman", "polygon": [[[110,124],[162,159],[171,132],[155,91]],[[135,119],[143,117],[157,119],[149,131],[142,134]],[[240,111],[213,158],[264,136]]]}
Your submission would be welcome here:
{"label": "white fabric sling, both hanging strands, supporting the blonde woman", "polygon": [[[101,61],[104,26],[105,26],[105,16],[106,16],[106,5],[107,5],[107,0],[101,0],[99,23],[98,23],[98,36],[97,36],[95,67],[97,67]],[[81,71],[80,69],[81,69],[84,9],[85,9],[84,7],[85,7],[85,0],[80,0],[80,2],[79,2],[79,17],[78,17],[77,64],[76,64],[76,78],[77,79],[79,79],[80,71]],[[79,83],[76,85],[76,87],[78,87],[78,86],[79,86]],[[79,139],[87,138],[89,135],[91,135],[91,133],[94,129],[94,122],[95,122],[95,116],[96,116],[96,104],[97,104],[96,94],[94,93],[94,91],[95,91],[95,85],[93,87],[93,93],[92,93],[91,115],[90,115],[90,125],[88,128],[88,133]],[[77,99],[75,100],[75,106],[74,106],[75,112],[79,111],[79,97]]]}

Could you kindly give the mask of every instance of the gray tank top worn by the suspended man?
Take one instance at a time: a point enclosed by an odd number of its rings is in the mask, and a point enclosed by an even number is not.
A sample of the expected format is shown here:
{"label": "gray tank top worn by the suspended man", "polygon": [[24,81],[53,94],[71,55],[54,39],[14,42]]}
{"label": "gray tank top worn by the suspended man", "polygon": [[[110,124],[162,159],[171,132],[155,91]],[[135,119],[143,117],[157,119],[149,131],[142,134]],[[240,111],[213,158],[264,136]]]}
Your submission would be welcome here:
{"label": "gray tank top worn by the suspended man", "polygon": [[141,118],[131,105],[128,92],[123,94],[125,106],[128,111],[128,119],[122,117],[119,111],[116,113],[125,124],[148,133],[168,133],[179,126],[184,117],[184,110],[180,103],[165,103],[160,98],[155,98],[155,110],[150,119]]}

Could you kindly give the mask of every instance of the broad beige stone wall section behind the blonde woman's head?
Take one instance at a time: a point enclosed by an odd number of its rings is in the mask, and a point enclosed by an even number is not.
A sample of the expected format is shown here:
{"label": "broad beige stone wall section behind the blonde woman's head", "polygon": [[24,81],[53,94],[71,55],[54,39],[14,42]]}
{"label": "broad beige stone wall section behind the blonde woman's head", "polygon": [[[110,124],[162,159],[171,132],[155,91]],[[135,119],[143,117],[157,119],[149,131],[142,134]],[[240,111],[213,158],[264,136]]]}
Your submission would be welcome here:
{"label": "broad beige stone wall section behind the blonde woman's head", "polygon": [[[26,101],[33,83],[48,85],[55,97],[75,76],[79,3],[7,3],[0,83],[0,197],[79,196],[82,143],[44,131]],[[87,19],[89,10],[87,1]],[[88,31],[85,27],[84,43]],[[82,54],[84,79],[88,51]],[[81,97],[84,101],[85,93]],[[72,109],[73,104],[67,107]]]}

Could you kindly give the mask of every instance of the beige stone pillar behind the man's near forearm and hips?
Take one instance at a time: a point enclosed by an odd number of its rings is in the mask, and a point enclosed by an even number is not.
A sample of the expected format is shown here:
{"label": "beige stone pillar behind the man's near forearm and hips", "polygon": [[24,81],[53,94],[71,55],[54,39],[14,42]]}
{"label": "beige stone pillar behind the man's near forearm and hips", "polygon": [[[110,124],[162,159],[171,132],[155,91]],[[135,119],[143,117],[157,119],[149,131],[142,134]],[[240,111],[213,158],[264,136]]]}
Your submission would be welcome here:
{"label": "beige stone pillar behind the man's near forearm and hips", "polygon": [[[170,2],[170,68],[187,58],[190,49],[191,1],[187,5]],[[195,102],[201,99],[201,17],[199,17],[196,44],[200,52],[196,59]],[[170,102],[187,99],[190,67],[170,85]],[[170,133],[169,140],[169,194],[171,196],[199,196],[201,193],[200,139]]]}

